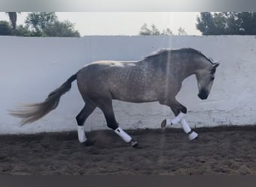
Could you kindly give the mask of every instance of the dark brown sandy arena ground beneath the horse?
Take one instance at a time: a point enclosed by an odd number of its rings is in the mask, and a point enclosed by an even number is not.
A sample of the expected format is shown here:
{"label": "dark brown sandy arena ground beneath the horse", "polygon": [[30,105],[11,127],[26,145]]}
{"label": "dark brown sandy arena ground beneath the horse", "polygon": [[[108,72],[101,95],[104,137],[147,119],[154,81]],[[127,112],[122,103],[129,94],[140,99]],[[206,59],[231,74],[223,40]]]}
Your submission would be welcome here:
{"label": "dark brown sandy arena ground beneath the horse", "polygon": [[256,126],[127,131],[141,149],[111,130],[89,132],[92,147],[76,132],[0,136],[0,174],[256,174]]}

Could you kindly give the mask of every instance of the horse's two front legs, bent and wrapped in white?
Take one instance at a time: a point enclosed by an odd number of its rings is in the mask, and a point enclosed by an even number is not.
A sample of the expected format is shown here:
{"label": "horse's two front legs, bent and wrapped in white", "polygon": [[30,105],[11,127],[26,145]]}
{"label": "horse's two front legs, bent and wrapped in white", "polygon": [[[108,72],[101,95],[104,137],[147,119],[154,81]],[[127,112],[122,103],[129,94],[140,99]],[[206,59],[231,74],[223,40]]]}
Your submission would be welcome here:
{"label": "horse's two front legs, bent and wrapped in white", "polygon": [[177,100],[174,100],[169,105],[171,108],[171,111],[174,112],[174,115],[176,116],[174,119],[165,119],[161,123],[161,127],[165,128],[165,126],[171,126],[177,123],[180,123],[182,126],[184,132],[189,135],[189,140],[194,140],[195,138],[198,138],[198,133],[192,131],[189,124],[186,122],[185,114],[186,114],[186,107],[181,105],[180,102],[177,102]]}

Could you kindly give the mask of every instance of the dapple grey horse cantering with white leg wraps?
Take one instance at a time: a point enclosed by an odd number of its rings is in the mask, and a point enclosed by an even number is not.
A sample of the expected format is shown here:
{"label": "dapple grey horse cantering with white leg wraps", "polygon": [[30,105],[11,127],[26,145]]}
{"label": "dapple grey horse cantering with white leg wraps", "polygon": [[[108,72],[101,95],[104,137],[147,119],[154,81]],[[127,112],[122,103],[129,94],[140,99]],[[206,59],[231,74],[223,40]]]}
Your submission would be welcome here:
{"label": "dapple grey horse cantering with white leg wraps", "polygon": [[173,120],[163,120],[161,126],[180,123],[192,140],[198,135],[186,123],[186,107],[175,96],[180,91],[183,80],[195,74],[198,96],[207,99],[218,66],[219,63],[192,48],[160,49],[141,61],[96,61],[70,76],[63,85],[49,93],[43,102],[23,105],[22,108],[10,111],[10,114],[21,117],[22,124],[40,119],[58,106],[60,97],[70,90],[71,83],[76,80],[85,101],[84,108],[76,116],[80,143],[86,146],[93,144],[86,138],[84,123],[98,107],[106,117],[107,126],[132,147],[138,147],[138,142],[118,126],[112,99],[137,103],[159,101],[162,105],[168,105],[176,117]]}

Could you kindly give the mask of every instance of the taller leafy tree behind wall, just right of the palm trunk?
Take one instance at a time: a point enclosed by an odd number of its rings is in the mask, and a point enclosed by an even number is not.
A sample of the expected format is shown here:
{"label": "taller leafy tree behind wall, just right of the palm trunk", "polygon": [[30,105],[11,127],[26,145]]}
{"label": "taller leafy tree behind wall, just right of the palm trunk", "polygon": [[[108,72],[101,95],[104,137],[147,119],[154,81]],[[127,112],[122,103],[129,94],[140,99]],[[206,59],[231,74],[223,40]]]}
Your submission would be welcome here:
{"label": "taller leafy tree behind wall, just right of the palm trunk", "polygon": [[37,12],[28,13],[25,23],[28,28],[34,31],[35,36],[43,35],[43,30],[49,25],[54,24],[57,21],[57,16],[54,12]]}

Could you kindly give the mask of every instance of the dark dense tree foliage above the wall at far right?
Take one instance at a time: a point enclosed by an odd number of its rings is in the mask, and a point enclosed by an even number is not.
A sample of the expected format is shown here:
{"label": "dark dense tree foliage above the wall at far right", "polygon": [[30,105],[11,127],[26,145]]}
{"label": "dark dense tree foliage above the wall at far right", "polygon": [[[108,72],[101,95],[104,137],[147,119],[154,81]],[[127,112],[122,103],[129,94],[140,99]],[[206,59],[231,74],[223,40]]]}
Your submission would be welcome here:
{"label": "dark dense tree foliage above the wall at far right", "polygon": [[203,35],[255,35],[255,12],[200,13],[196,27]]}

